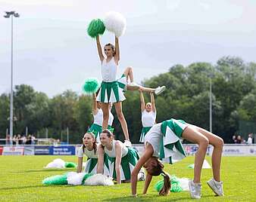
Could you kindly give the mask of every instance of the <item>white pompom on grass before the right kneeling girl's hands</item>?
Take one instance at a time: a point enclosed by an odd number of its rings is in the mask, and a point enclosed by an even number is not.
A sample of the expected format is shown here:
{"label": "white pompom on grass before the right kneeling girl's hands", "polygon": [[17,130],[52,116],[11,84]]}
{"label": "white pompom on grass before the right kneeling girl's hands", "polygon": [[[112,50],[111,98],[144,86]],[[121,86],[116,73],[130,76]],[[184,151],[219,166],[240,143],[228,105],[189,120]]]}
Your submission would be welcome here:
{"label": "white pompom on grass before the right kneeling girl's hands", "polygon": [[93,176],[89,176],[88,179],[84,182],[84,185],[103,185],[103,186],[111,186],[114,185],[111,177],[104,176],[102,174],[95,174]]}

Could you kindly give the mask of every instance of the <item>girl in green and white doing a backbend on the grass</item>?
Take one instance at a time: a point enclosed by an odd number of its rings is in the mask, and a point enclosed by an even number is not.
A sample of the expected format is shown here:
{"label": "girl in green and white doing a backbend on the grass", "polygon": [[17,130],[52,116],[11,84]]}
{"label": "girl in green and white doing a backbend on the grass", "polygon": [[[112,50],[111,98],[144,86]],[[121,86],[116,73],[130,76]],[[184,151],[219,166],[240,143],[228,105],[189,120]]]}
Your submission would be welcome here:
{"label": "girl in green and white doing a backbend on the grass", "polygon": [[167,195],[170,190],[170,177],[164,173],[164,165],[158,158],[166,158],[170,164],[180,161],[186,154],[180,138],[198,144],[198,152],[195,155],[194,179],[189,181],[189,191],[192,198],[201,198],[201,167],[208,148],[208,144],[214,146],[212,154],[213,178],[207,183],[218,196],[223,196],[223,182],[220,181],[220,161],[223,149],[223,139],[201,127],[187,124],[185,121],[170,120],[155,124],[145,135],[145,152],[139,159],[132,173],[132,193],[136,196],[136,186],[139,170],[144,165],[147,170],[143,193],[146,194],[152,176],[164,176],[164,187],[159,194]]}

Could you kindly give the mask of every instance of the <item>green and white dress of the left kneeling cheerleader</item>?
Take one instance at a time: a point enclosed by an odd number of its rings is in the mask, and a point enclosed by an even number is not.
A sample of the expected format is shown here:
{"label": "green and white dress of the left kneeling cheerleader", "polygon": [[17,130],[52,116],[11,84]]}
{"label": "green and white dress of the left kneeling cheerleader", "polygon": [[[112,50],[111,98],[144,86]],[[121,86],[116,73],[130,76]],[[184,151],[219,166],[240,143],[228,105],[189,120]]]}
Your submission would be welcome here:
{"label": "green and white dress of the left kneeling cheerleader", "polygon": [[[97,145],[98,147],[98,145]],[[86,155],[87,161],[84,165],[84,173],[97,173],[97,164],[98,164],[98,150],[95,152],[94,149],[88,150],[87,148],[83,148],[83,145],[79,148],[77,156],[83,158],[83,155]],[[112,176],[111,170],[111,161],[109,161],[108,155],[104,155],[104,172],[105,176]]]}

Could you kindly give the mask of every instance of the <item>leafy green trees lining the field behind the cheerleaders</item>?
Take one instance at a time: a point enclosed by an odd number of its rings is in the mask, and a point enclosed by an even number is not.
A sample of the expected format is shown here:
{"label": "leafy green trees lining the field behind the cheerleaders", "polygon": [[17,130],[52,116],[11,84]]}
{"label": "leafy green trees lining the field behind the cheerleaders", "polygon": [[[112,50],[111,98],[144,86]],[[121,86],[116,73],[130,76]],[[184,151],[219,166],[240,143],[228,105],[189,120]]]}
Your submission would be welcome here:
{"label": "leafy green trees lining the field behind the cheerleaders", "polygon": [[[209,88],[212,84],[213,132],[229,142],[239,131],[239,121],[256,121],[256,63],[245,63],[238,57],[223,57],[216,65],[192,63],[177,64],[168,72],[155,75],[143,82],[145,87],[165,85],[167,90],[155,96],[157,122],[180,118],[188,123],[209,130]],[[89,90],[95,88],[95,84]],[[123,102],[130,139],[139,142],[142,130],[139,92],[127,91]],[[149,94],[144,93],[145,102]],[[5,138],[9,126],[9,95],[0,95],[0,137]],[[123,131],[114,112],[114,134],[123,140]],[[66,90],[48,98],[33,87],[19,85],[14,90],[14,133],[29,133],[66,141],[67,127],[70,142],[81,143],[83,133],[92,124],[92,96],[80,95]],[[256,133],[256,131],[251,131]],[[248,134],[241,134],[247,136]],[[61,138],[62,137],[62,138]]]}

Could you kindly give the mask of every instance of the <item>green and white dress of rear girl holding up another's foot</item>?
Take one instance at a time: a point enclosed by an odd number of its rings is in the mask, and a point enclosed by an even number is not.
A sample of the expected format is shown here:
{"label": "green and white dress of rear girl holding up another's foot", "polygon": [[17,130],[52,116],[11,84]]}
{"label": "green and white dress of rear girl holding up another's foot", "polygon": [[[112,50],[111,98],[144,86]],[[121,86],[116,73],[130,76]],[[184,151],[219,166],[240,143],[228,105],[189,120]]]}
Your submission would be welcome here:
{"label": "green and white dress of rear girl holding up another's foot", "polygon": [[147,112],[145,109],[142,112],[142,133],[140,134],[139,142],[145,142],[145,134],[155,124],[157,118],[157,112]]}

